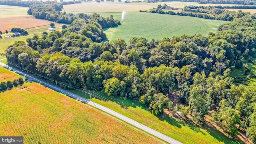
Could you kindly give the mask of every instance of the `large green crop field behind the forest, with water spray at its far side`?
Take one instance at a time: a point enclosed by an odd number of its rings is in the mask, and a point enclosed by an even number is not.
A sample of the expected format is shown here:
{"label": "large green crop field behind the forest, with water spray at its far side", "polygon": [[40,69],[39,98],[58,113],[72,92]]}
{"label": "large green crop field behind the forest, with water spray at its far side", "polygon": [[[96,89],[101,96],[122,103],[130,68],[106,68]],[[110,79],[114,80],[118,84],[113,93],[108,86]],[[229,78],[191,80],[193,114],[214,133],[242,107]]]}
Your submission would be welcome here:
{"label": "large green crop field behind the forest, with water spray at its far side", "polygon": [[[110,13],[105,13],[110,15]],[[104,14],[103,14],[104,15]],[[102,15],[102,16],[103,16]],[[121,13],[115,17],[122,18]],[[145,37],[149,40],[160,40],[164,37],[193,35],[201,33],[206,36],[209,32],[216,32],[220,24],[227,21],[208,20],[189,16],[174,16],[146,12],[125,12],[121,26],[105,30],[108,40],[124,38],[128,41],[132,37]]]}

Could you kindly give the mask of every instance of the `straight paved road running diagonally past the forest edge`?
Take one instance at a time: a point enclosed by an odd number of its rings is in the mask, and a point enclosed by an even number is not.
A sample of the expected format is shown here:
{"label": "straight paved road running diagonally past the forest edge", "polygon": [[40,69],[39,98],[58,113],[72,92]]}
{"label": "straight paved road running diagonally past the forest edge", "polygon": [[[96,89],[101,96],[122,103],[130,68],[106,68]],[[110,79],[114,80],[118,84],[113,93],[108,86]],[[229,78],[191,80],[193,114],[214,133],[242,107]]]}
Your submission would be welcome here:
{"label": "straight paved road running diagonally past the forest edge", "polygon": [[11,69],[11,70],[13,70],[14,72],[16,72],[18,74],[22,74],[22,75],[30,78],[30,80],[33,80],[35,82],[39,82],[39,83],[41,83],[41,84],[43,84],[43,85],[45,85],[45,86],[47,86],[47,87],[49,87],[49,88],[51,88],[53,90],[56,90],[58,92],[66,94],[66,95],[68,95],[68,96],[70,96],[72,98],[75,98],[75,99],[78,99],[78,100],[80,100],[82,102],[90,104],[91,106],[94,106],[95,108],[98,108],[98,109],[100,109],[100,110],[102,110],[104,112],[107,112],[108,114],[110,114],[112,116],[115,116],[115,117],[119,118],[120,120],[123,120],[123,121],[125,121],[125,122],[127,122],[129,124],[132,124],[133,126],[135,126],[137,128],[140,128],[141,130],[144,130],[145,132],[148,132],[149,134],[152,134],[153,136],[156,136],[156,137],[158,137],[158,138],[160,138],[160,139],[162,139],[162,140],[164,140],[166,142],[169,142],[170,144],[182,144],[181,142],[178,142],[177,140],[174,140],[173,138],[170,138],[169,136],[166,136],[166,135],[164,135],[164,134],[162,134],[162,133],[160,133],[160,132],[158,132],[156,130],[153,130],[152,128],[149,128],[149,127],[147,127],[147,126],[145,126],[143,124],[140,124],[139,122],[136,122],[135,120],[132,120],[132,119],[130,119],[130,118],[128,118],[128,117],[126,117],[126,116],[124,116],[122,114],[119,114],[118,112],[115,112],[114,110],[110,110],[109,108],[106,108],[105,106],[102,106],[100,104],[97,104],[95,102],[87,100],[86,98],[83,98],[81,96],[73,94],[73,93],[71,93],[71,92],[69,92],[67,90],[62,89],[62,88],[58,88],[58,87],[56,87],[56,86],[54,86],[52,84],[49,84],[48,82],[44,82],[43,80],[40,80],[40,79],[35,78],[33,76],[30,76],[27,73],[22,72],[20,70],[17,70],[15,68],[12,68],[12,67],[10,67],[10,66],[2,63],[2,62],[0,62],[0,65],[4,66],[6,68]]}

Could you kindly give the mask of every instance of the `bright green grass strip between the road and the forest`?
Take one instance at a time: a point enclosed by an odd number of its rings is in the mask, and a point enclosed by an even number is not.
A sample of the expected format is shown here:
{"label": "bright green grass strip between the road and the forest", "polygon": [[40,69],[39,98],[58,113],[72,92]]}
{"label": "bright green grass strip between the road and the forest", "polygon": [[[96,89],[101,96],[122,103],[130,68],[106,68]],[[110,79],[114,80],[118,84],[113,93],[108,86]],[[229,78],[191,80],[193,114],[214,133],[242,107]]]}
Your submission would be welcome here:
{"label": "bright green grass strip between the road and the forest", "polygon": [[[79,90],[70,90],[84,98],[90,98],[84,92]],[[106,106],[124,116],[136,120],[154,130],[157,130],[171,138],[174,138],[184,144],[241,144],[242,142],[226,137],[216,128],[201,126],[190,121],[180,121],[166,114],[154,116],[147,107],[131,99],[110,98],[103,92],[96,92],[100,96],[107,98],[108,101],[92,98],[92,101]]]}

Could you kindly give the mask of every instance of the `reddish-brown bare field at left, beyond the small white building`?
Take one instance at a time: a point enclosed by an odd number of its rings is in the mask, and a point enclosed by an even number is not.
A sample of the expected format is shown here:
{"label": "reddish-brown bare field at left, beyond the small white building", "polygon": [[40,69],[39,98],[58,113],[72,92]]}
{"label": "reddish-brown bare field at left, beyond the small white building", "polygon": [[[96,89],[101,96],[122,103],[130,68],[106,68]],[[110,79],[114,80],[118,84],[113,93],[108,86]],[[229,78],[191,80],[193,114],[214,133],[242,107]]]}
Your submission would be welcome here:
{"label": "reddish-brown bare field at left, beyond the small white building", "polygon": [[48,20],[40,20],[36,18],[31,18],[31,16],[19,16],[13,18],[0,18],[0,30],[5,32],[5,30],[10,31],[12,28],[34,28],[38,26],[50,25]]}

